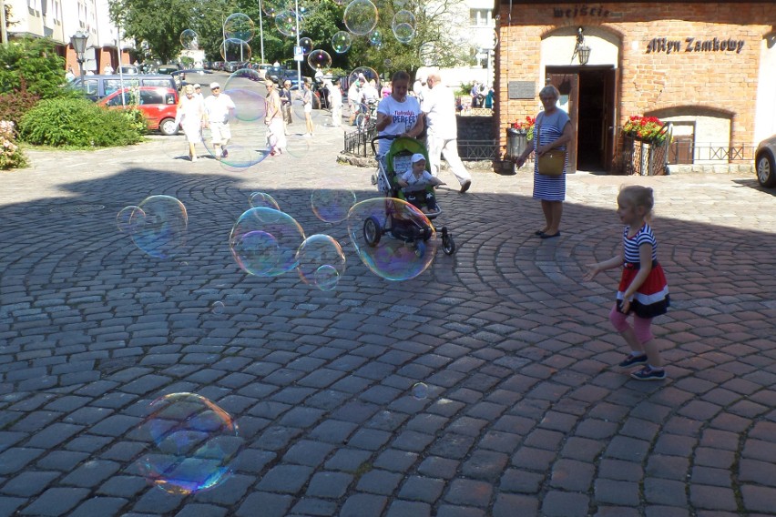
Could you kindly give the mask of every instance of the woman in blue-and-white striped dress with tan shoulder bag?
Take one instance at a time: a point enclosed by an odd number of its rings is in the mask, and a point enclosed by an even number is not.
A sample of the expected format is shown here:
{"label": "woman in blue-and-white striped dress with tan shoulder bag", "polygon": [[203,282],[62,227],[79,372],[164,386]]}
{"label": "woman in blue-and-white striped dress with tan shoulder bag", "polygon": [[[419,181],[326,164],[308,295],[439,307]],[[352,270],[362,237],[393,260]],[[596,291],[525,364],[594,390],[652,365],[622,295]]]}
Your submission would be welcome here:
{"label": "woman in blue-and-white striped dress with tan shoulder bag", "polygon": [[[536,147],[536,157],[541,157],[547,151],[557,148],[565,151],[568,142],[574,138],[571,120],[562,109],[557,107],[560,92],[552,85],[547,85],[539,92],[544,111],[536,116],[534,139],[528,140],[526,150],[517,157],[517,167],[523,167],[526,157]],[[536,230],[539,238],[554,238],[560,236],[560,218],[563,215],[563,201],[566,199],[566,169],[568,154],[563,174],[560,176],[543,176],[539,174],[539,160],[534,159],[534,199],[542,202],[545,214],[545,228]]]}

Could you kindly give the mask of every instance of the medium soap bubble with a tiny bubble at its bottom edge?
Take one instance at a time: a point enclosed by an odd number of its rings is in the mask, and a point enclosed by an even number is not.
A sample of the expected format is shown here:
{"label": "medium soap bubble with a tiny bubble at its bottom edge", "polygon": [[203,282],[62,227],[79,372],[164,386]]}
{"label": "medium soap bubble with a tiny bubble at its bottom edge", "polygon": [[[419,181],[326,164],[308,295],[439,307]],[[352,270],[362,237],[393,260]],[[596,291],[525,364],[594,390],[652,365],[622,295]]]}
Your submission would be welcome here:
{"label": "medium soap bubble with a tiny bubble at its bottom edge", "polygon": [[345,254],[340,243],[328,235],[304,239],[297,250],[299,278],[321,290],[332,290],[345,272]]}

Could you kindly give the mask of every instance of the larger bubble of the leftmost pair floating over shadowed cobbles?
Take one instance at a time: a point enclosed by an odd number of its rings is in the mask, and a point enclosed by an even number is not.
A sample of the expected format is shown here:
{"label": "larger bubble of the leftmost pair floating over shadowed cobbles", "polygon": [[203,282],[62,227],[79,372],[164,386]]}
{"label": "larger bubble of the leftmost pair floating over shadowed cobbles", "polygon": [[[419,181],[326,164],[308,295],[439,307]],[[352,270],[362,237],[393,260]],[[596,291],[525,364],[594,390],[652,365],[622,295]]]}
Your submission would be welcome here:
{"label": "larger bubble of the leftmost pair floating over shadowed cobbles", "polygon": [[170,196],[144,199],[129,218],[135,245],[151,257],[168,258],[185,243],[189,216],[186,207]]}

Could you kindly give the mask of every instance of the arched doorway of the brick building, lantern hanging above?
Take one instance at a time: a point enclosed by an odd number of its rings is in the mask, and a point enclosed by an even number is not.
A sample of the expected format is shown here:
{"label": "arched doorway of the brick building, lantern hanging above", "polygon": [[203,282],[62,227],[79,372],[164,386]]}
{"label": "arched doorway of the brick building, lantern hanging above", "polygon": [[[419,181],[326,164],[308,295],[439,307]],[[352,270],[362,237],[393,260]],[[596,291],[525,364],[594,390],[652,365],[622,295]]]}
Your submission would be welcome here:
{"label": "arched doorway of the brick building, lantern hanging above", "polygon": [[[544,82],[557,87],[559,105],[571,118],[577,139],[569,147],[573,170],[612,169],[618,120],[620,38],[600,27],[582,27],[590,47],[586,65],[571,62],[578,27],[561,27],[542,39]],[[575,61],[576,61],[575,57]]]}

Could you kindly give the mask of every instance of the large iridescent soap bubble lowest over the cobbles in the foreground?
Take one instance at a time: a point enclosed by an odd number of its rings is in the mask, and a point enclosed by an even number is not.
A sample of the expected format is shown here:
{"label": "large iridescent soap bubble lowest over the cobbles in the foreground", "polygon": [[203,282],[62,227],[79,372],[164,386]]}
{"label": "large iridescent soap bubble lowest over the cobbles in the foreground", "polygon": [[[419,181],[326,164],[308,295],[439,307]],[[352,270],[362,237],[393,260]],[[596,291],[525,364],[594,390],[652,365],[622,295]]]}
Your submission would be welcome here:
{"label": "large iridescent soap bubble lowest over the cobbles in the foreground", "polygon": [[161,490],[189,495],[227,480],[245,446],[229,413],[194,393],[154,400],[138,426],[148,450],[138,470]]}

